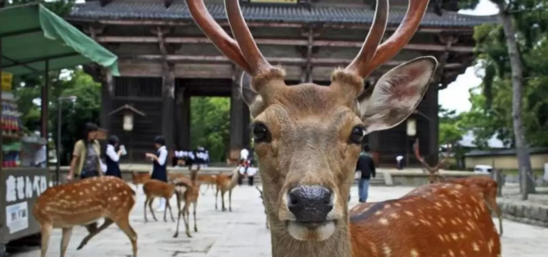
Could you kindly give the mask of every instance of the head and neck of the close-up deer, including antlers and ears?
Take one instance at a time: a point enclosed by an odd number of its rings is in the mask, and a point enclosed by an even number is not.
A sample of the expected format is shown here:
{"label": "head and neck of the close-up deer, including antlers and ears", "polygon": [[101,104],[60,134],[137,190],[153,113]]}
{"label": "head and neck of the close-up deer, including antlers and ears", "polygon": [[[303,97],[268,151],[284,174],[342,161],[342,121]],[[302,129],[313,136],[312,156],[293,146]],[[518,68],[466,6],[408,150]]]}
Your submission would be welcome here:
{"label": "head and neck of the close-up deer, including antlers and ears", "polygon": [[[232,39],[208,13],[203,0],[186,0],[196,24],[249,75],[242,79],[250,83],[242,83],[241,91],[254,118],[255,152],[261,179],[265,181],[263,190],[272,237],[276,238],[272,241],[273,256],[298,254],[284,253],[282,249],[296,245],[309,245],[311,249],[330,247],[330,253],[347,255],[350,244],[345,240],[346,200],[361,142],[370,132],[395,127],[415,110],[437,61],[426,56],[392,68],[366,96],[361,96],[363,81],[409,42],[428,2],[410,0],[402,24],[379,45],[386,29],[389,3],[378,0],[361,50],[348,66],[332,73],[329,87],[313,83],[288,87],[284,69],[272,66],[260,53],[239,1],[225,0],[235,38]],[[327,239],[327,243],[315,243]],[[282,252],[277,252],[278,248]]]}

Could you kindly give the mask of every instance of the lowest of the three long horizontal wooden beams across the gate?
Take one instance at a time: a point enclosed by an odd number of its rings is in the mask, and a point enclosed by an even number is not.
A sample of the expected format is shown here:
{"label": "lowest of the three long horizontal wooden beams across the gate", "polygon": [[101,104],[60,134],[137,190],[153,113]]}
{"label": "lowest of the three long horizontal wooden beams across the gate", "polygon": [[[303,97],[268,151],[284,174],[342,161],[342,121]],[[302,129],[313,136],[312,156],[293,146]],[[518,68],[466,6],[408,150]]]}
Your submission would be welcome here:
{"label": "lowest of the three long horizontal wooden beams across the gate", "polygon": [[[159,54],[121,54],[118,55],[120,60],[144,60],[144,61],[163,61],[164,58]],[[232,62],[225,56],[220,55],[176,55],[168,54],[165,58],[169,62],[197,62],[197,63],[227,63]],[[286,64],[286,65],[299,65],[306,64],[306,58],[293,58],[293,57],[272,57],[266,58],[271,64]],[[336,58],[311,58],[311,63],[317,66],[337,66],[348,65],[351,59],[336,59]],[[384,65],[396,66],[406,61],[387,61]],[[458,68],[464,66],[461,63],[446,64],[446,68]]]}

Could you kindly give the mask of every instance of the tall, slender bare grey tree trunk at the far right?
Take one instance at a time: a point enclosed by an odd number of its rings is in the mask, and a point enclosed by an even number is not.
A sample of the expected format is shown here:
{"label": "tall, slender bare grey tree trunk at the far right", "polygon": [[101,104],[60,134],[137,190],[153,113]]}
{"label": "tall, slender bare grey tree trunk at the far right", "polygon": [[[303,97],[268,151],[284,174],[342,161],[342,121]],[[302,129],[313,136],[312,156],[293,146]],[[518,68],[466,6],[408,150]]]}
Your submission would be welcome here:
{"label": "tall, slender bare grey tree trunk at the far right", "polygon": [[[500,1],[500,0],[499,0]],[[503,24],[504,35],[508,55],[510,57],[510,66],[512,70],[512,120],[514,129],[514,138],[516,140],[516,153],[518,167],[520,170],[522,199],[526,200],[528,193],[535,192],[533,172],[531,169],[531,160],[528,152],[528,145],[525,139],[522,117],[522,92],[523,92],[523,65],[518,52],[516,42],[516,29],[512,24],[512,16],[506,11],[505,1],[496,1],[499,8],[499,17]]]}

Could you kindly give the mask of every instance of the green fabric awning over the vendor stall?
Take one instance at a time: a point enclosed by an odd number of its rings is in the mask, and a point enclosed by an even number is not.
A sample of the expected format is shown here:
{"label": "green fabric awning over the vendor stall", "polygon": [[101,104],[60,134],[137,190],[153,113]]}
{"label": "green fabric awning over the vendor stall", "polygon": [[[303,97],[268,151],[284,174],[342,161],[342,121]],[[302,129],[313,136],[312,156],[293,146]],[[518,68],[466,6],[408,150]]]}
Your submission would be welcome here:
{"label": "green fabric awning over the vendor stall", "polygon": [[0,9],[2,71],[21,75],[96,62],[119,76],[118,56],[45,8],[28,4]]}

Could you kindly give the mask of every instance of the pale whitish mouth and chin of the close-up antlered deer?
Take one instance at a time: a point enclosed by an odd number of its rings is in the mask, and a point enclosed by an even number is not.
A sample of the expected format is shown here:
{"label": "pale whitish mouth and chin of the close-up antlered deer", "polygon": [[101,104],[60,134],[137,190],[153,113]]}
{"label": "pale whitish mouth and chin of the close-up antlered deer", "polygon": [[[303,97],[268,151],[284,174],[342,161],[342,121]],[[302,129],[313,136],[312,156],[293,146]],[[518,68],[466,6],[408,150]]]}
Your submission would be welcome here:
{"label": "pale whitish mouth and chin of the close-up antlered deer", "polygon": [[288,220],[286,226],[289,235],[299,241],[324,241],[335,233],[336,221],[302,222]]}

